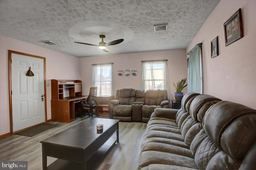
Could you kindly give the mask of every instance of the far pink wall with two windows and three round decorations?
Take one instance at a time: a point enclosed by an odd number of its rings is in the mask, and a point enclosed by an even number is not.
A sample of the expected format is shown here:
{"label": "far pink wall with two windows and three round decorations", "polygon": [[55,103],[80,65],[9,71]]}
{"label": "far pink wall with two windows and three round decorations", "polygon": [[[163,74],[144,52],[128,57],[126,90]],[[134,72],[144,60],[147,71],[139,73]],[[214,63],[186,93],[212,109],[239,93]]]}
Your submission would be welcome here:
{"label": "far pink wall with two windows and three round decorations", "polygon": [[[162,60],[167,59],[169,92],[170,99],[174,99],[173,82],[177,82],[184,77],[187,77],[187,60],[186,50],[166,50],[155,52],[140,52],[130,54],[93,56],[80,58],[80,75],[83,81],[83,94],[88,95],[89,89],[92,86],[92,64],[113,62],[114,69],[114,93],[122,88],[141,89],[142,79],[142,60]],[[118,70],[138,70],[137,76],[118,76]],[[182,92],[186,93],[187,89]]]}

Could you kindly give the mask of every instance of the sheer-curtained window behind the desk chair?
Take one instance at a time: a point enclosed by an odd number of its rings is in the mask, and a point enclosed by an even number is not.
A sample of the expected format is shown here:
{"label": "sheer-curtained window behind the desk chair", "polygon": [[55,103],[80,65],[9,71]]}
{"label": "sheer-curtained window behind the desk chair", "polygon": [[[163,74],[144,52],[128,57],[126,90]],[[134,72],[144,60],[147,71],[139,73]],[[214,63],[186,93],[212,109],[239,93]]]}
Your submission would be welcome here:
{"label": "sheer-curtained window behind the desk chair", "polygon": [[92,64],[92,86],[97,88],[97,96],[113,95],[113,63]]}

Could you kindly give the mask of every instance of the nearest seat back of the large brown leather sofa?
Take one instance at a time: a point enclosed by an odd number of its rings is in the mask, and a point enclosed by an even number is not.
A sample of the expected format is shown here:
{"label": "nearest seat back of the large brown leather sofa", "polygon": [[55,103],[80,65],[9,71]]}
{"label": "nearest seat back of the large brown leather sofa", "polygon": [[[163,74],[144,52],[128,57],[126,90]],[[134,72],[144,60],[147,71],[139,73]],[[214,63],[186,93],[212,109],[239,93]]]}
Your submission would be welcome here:
{"label": "nearest seat back of the large brown leather sofa", "polygon": [[190,145],[198,168],[238,170],[247,152],[255,147],[256,110],[221,101],[207,110],[202,125]]}

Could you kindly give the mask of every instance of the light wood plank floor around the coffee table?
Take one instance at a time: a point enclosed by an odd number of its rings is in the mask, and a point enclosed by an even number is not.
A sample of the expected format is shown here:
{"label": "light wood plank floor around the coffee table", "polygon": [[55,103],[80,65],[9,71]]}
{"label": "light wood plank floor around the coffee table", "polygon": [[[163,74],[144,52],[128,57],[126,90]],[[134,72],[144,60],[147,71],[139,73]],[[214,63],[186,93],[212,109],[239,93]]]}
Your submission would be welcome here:
{"label": "light wood plank floor around the coffee table", "polygon": [[[42,170],[42,146],[39,143],[54,134],[80,123],[77,118],[70,124],[60,124],[33,137],[12,135],[0,140],[1,161],[28,161],[28,170]],[[119,122],[119,144],[116,144],[102,160],[96,170],[136,170],[140,154],[140,144],[146,130],[145,123]],[[48,164],[56,158],[48,157]]]}

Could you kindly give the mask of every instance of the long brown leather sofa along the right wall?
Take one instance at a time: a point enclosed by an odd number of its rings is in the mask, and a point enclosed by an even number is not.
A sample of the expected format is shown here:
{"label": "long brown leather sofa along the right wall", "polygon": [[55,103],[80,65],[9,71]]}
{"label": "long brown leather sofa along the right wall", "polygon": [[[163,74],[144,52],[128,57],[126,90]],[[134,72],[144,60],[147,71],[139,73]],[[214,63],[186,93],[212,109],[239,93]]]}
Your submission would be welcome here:
{"label": "long brown leather sofa along the right wall", "polygon": [[182,108],[157,108],[147,124],[138,170],[255,170],[256,110],[188,93]]}

